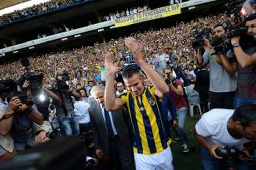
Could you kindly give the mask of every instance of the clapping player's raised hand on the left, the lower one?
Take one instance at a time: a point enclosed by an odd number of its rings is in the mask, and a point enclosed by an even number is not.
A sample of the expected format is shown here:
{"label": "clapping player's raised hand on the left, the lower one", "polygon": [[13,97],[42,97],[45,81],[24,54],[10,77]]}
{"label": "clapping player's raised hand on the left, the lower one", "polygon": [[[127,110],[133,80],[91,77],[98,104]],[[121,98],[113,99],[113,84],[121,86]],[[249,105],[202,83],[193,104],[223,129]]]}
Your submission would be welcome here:
{"label": "clapping player's raised hand on the left, the lower one", "polygon": [[120,59],[114,63],[114,54],[107,52],[105,55],[105,68],[108,73],[115,73],[118,70]]}

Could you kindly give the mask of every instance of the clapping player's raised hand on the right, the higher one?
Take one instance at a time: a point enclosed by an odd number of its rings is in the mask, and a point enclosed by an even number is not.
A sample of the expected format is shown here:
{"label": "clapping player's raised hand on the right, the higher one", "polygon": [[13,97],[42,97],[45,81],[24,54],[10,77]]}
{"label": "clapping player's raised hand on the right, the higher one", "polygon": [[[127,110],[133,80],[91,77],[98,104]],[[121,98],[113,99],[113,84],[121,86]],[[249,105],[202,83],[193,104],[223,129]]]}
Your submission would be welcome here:
{"label": "clapping player's raised hand on the right, the higher one", "polygon": [[141,53],[142,44],[138,40],[132,37],[125,38],[125,45],[131,50],[135,61],[143,60]]}

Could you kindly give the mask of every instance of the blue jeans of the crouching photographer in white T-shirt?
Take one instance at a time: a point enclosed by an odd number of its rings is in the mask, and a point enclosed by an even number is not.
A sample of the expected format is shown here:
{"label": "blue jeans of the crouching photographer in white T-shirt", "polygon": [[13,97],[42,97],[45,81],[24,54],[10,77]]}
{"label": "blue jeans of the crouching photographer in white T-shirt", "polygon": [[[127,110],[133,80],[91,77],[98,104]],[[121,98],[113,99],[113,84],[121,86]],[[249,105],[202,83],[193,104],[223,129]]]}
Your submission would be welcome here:
{"label": "blue jeans of the crouching photographer in white T-shirt", "polygon": [[[216,159],[210,155],[210,153],[203,147],[201,147],[201,165],[202,170],[225,170],[225,159]],[[244,161],[235,160],[234,165],[238,170],[248,170],[248,165]]]}

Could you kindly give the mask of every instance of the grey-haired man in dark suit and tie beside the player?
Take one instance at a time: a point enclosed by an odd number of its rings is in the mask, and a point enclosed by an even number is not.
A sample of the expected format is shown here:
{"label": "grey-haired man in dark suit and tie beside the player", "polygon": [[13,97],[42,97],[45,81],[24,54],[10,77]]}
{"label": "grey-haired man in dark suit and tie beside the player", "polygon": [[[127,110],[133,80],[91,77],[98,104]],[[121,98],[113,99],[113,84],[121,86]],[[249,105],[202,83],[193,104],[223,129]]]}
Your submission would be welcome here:
{"label": "grey-haired man in dark suit and tie beside the player", "polygon": [[97,103],[89,108],[96,155],[109,160],[107,169],[134,170],[132,143],[122,110],[108,112],[104,107],[104,86],[94,86],[91,95]]}

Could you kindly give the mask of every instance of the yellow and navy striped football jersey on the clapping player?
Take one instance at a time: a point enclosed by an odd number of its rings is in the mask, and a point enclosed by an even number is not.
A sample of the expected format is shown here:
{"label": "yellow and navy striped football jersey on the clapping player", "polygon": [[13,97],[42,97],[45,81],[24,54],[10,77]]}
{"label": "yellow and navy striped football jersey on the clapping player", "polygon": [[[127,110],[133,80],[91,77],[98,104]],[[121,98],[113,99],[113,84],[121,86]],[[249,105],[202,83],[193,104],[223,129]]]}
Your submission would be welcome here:
{"label": "yellow and navy striped football jersey on the clapping player", "polygon": [[133,125],[133,151],[136,153],[159,153],[171,143],[160,113],[161,98],[158,98],[154,91],[155,86],[149,86],[137,97],[130,92],[121,95]]}

